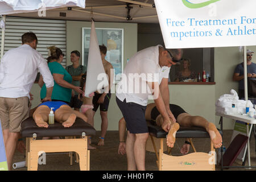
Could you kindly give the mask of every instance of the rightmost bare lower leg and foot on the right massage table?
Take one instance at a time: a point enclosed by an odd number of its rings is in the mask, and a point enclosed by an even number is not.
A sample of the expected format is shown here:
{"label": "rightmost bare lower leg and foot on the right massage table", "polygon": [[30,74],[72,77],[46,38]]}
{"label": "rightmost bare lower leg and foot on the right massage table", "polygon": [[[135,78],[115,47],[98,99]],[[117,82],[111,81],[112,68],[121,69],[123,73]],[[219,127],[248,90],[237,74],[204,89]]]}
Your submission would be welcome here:
{"label": "rightmost bare lower leg and foot on the right massage table", "polygon": [[222,146],[221,134],[218,132],[216,126],[213,123],[208,122],[205,118],[200,116],[191,116],[188,113],[182,113],[177,117],[177,122],[180,123],[180,126],[185,127],[203,127],[208,131],[214,148],[220,148]]}

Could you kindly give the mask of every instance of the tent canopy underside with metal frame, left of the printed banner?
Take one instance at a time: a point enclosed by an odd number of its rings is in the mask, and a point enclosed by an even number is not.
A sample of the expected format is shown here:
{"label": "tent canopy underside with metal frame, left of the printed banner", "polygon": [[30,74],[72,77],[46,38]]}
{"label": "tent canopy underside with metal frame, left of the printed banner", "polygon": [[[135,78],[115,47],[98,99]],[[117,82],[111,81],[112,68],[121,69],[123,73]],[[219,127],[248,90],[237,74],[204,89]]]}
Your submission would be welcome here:
{"label": "tent canopy underside with metal frame, left of the printed banner", "polygon": [[[19,0],[19,2],[27,0]],[[9,0],[6,2],[14,2]],[[46,19],[63,19],[63,20],[85,20],[90,21],[92,18],[96,22],[123,22],[123,23],[159,23],[158,16],[154,5],[154,0],[86,0],[86,1],[49,1],[49,0],[31,0],[31,6],[34,10],[31,11],[16,11],[18,6],[14,6],[13,10],[7,11],[2,8],[2,5],[11,8],[5,2],[0,0],[0,14],[9,16],[20,16],[27,18],[46,18]],[[38,6],[40,3],[46,3],[46,16],[39,17]],[[49,3],[48,3],[49,2]],[[67,2],[61,7],[60,2]],[[48,3],[48,4],[47,4]],[[84,4],[86,7],[84,8]],[[68,10],[69,5],[79,6],[72,7]],[[53,7],[55,9],[53,9]],[[59,8],[57,8],[59,7]],[[15,13],[15,14],[14,14]],[[128,20],[127,20],[128,19]]]}

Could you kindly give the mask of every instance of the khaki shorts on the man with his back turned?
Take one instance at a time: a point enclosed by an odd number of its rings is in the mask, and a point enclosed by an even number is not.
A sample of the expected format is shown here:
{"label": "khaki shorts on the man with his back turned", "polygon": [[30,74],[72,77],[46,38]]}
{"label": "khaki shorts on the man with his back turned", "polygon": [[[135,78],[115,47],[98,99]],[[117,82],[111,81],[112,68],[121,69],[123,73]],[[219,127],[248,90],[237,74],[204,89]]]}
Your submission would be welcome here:
{"label": "khaki shorts on the man with his back turned", "polygon": [[3,130],[17,133],[21,130],[21,123],[28,118],[31,102],[28,97],[6,98],[0,97],[0,119]]}

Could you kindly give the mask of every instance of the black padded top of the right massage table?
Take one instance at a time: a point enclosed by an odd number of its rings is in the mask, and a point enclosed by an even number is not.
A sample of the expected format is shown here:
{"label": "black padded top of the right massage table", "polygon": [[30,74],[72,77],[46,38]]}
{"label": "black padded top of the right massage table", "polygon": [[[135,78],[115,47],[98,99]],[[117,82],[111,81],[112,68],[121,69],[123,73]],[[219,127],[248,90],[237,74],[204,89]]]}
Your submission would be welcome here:
{"label": "black padded top of the right massage table", "polygon": [[[156,138],[166,138],[168,134],[153,121],[147,121],[148,132]],[[218,130],[222,136],[222,131]],[[203,127],[180,127],[176,138],[210,138],[209,133]]]}

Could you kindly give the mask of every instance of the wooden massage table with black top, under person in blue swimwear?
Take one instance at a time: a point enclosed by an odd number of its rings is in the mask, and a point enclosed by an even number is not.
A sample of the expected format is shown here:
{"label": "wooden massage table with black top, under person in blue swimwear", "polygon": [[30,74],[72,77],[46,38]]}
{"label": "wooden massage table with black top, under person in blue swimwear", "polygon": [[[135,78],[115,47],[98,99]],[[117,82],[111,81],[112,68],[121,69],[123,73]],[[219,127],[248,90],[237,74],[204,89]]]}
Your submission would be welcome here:
{"label": "wooden massage table with black top, under person in blue swimwear", "polygon": [[[90,169],[88,136],[96,135],[96,130],[80,118],[71,127],[55,122],[48,128],[38,127],[33,118],[27,118],[21,125],[21,136],[26,138],[26,166],[28,171],[37,171],[38,158],[44,152],[70,152],[79,155],[81,171]],[[69,137],[69,139],[38,139],[41,137]],[[79,138],[75,138],[79,137]]]}

